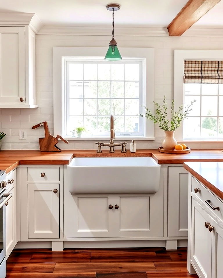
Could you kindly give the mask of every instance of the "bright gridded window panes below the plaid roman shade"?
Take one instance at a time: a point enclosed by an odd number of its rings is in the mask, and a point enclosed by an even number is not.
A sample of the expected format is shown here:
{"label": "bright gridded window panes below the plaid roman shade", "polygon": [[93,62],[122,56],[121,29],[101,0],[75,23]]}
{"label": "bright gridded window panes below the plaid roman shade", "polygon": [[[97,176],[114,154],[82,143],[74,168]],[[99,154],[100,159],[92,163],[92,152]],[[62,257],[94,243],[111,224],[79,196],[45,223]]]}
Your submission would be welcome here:
{"label": "bright gridded window panes below the plaid roman shade", "polygon": [[223,85],[184,84],[184,106],[196,99],[183,124],[183,139],[223,139]]}

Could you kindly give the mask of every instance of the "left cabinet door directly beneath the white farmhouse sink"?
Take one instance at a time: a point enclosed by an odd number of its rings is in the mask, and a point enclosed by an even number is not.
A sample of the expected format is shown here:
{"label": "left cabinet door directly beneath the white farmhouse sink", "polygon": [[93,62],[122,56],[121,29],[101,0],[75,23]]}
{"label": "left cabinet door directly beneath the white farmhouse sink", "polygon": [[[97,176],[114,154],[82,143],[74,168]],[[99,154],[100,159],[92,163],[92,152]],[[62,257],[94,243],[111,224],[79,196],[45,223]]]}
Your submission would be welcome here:
{"label": "left cabinet door directly beneath the white farmhouse sink", "polygon": [[[111,237],[114,208],[108,196],[73,195],[73,217],[64,214],[64,237]],[[114,202],[113,202],[114,203]],[[114,204],[113,204],[114,206]],[[114,227],[113,227],[114,228]]]}

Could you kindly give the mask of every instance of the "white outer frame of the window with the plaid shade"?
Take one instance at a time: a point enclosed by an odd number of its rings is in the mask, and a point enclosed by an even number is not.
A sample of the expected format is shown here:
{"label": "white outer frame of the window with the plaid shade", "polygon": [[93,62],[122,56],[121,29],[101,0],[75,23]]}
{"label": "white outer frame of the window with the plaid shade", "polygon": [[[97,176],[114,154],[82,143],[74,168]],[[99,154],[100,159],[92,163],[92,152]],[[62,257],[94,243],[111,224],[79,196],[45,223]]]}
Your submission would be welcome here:
{"label": "white outer frame of the window with the plaid shade", "polygon": [[[184,61],[185,60],[223,60],[223,50],[174,50],[174,101],[177,110],[184,102]],[[218,142],[222,139],[183,139],[184,122],[175,131],[179,142]]]}

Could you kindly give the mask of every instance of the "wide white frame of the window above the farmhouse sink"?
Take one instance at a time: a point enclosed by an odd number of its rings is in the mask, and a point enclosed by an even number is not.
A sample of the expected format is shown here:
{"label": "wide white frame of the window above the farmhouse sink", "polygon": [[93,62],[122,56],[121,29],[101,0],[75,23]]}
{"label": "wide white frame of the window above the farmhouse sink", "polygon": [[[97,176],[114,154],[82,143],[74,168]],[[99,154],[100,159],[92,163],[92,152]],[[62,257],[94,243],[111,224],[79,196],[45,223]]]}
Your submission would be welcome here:
{"label": "wide white frame of the window above the farmhouse sink", "polygon": [[[154,110],[154,48],[145,47],[119,47],[123,59],[142,59],[144,61],[142,85],[144,87],[143,103],[148,109]],[[66,113],[66,61],[75,59],[101,59],[102,53],[106,53],[107,47],[53,47],[53,120],[54,135],[60,134],[66,140],[107,140],[109,136],[86,136],[82,138],[64,136],[64,121]],[[140,55],[139,55],[140,54]],[[134,60],[134,59],[133,59]],[[114,61],[116,62],[116,61]],[[145,78],[145,77],[146,78]],[[146,120],[143,124],[144,136],[117,136],[119,140],[155,140],[154,123]]]}

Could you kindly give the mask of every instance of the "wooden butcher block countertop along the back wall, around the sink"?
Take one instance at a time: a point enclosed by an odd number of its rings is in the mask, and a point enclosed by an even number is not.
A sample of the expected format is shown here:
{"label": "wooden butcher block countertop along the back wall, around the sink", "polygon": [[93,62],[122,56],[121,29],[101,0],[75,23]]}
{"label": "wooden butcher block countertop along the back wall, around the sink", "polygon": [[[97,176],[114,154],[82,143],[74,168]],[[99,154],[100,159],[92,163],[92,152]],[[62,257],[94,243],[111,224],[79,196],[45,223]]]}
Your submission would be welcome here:
{"label": "wooden butcher block countertop along the back wall, around the sink", "polygon": [[223,162],[221,150],[191,150],[186,154],[160,153],[157,149],[137,150],[135,153],[127,151],[121,153],[117,149],[115,153],[102,150],[62,150],[61,152],[41,152],[38,150],[1,150],[0,169],[9,171],[15,169],[19,164],[33,165],[60,165],[69,164],[73,157],[152,157],[159,164],[183,164],[184,162],[213,161]]}

